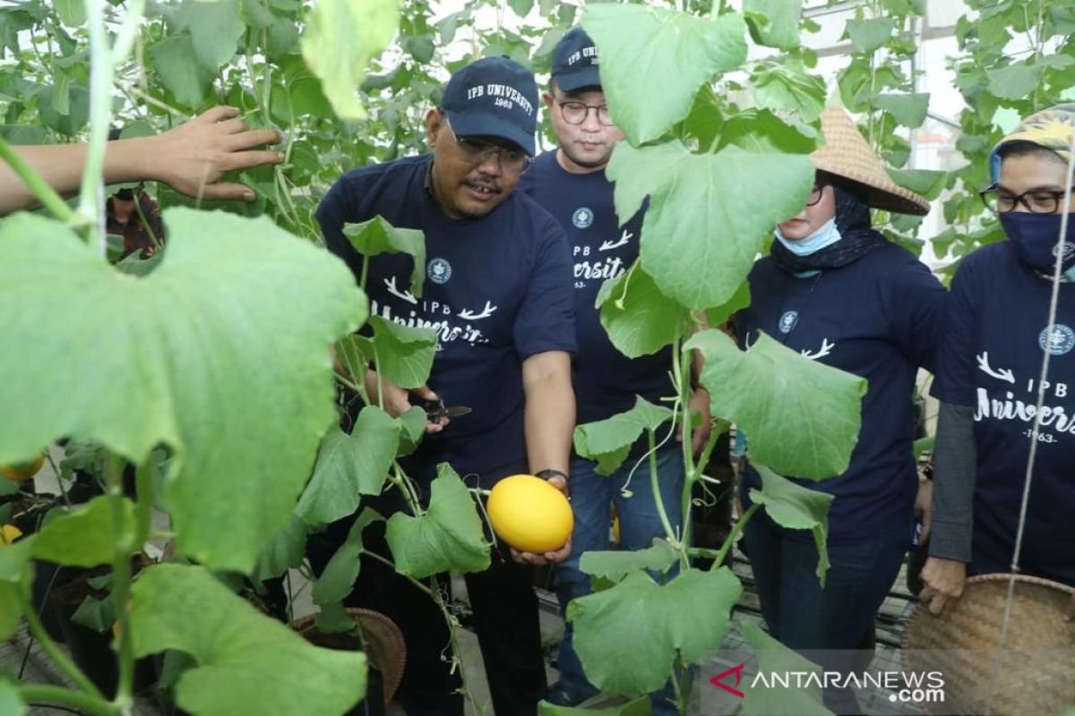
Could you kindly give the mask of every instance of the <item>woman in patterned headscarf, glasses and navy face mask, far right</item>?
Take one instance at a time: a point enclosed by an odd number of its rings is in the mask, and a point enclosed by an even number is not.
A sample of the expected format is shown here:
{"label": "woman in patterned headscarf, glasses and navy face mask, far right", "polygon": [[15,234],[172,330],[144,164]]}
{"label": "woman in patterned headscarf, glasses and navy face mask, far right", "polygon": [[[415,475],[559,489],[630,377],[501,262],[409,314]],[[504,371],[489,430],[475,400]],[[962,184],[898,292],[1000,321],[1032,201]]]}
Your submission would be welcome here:
{"label": "woman in patterned headscarf, glasses and navy face mask, far right", "polygon": [[1064,201],[1073,126],[1075,104],[1062,104],[1023,120],[993,149],[993,185],[981,196],[1007,240],[970,253],[951,282],[932,391],[941,412],[922,568],[921,598],[935,614],[959,598],[969,573],[1012,571],[1034,442],[1019,571],[1075,586],[1075,204]]}

